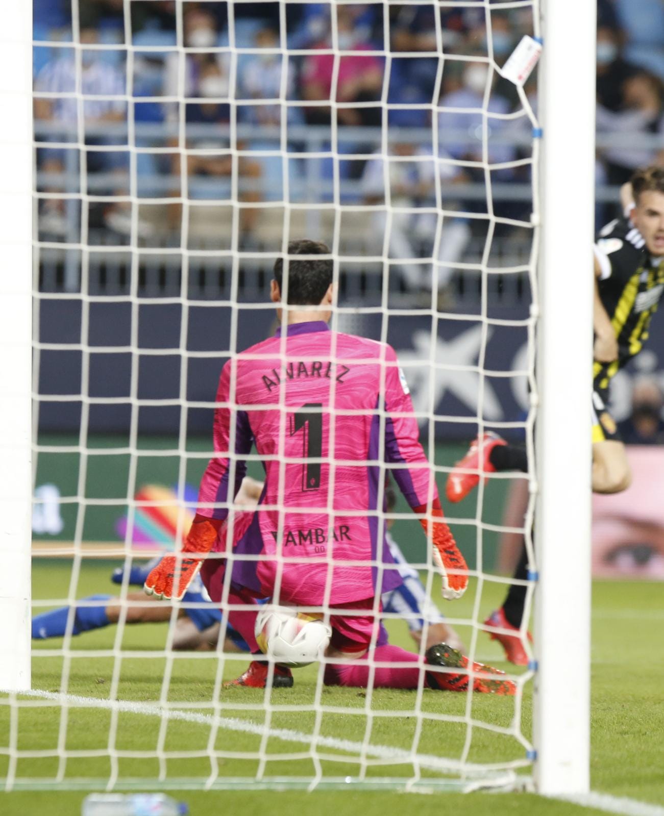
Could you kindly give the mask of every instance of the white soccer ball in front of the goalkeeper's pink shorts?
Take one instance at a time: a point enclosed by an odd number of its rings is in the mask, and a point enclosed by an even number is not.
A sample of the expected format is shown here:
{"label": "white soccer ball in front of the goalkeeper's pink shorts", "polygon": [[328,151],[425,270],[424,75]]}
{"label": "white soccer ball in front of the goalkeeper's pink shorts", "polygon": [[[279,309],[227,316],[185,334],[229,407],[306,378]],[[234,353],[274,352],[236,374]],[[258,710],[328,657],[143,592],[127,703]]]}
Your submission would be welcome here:
{"label": "white soccer ball in front of the goalkeeper's pink shorts", "polygon": [[292,606],[264,606],[256,618],[255,632],[263,654],[294,668],[320,660],[332,637],[328,623]]}

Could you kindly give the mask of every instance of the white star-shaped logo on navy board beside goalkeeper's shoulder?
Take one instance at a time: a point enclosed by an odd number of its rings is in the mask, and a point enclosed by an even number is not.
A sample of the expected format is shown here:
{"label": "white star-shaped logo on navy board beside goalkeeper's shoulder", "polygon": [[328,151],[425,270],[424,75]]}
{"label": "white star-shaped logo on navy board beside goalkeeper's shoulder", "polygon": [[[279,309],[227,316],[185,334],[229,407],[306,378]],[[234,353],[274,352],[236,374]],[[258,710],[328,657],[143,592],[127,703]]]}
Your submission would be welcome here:
{"label": "white star-shaped logo on navy board beside goalkeeper's shoulder", "polygon": [[[487,342],[491,329],[487,332]],[[399,352],[399,362],[406,371],[410,386],[412,405],[417,413],[436,410],[446,393],[452,393],[466,405],[471,415],[484,419],[501,419],[501,404],[488,378],[484,378],[484,397],[479,406],[481,381],[477,370],[482,348],[482,326],[461,331],[452,339],[434,339],[433,355],[430,353],[431,335],[428,331],[416,331],[412,337],[414,350]],[[430,364],[433,361],[433,365]],[[430,401],[433,388],[433,403]],[[419,417],[424,424],[426,417]]]}

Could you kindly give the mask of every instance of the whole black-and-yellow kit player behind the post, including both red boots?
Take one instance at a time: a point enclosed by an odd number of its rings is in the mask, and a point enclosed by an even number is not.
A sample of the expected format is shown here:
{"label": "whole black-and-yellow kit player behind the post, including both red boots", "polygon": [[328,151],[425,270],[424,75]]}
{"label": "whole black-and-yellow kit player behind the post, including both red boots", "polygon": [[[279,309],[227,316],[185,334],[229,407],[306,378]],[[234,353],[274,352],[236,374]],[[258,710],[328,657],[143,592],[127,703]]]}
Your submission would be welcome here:
{"label": "whole black-and-yellow kit player behind the post, including both red boots", "polygon": [[[629,463],[617,425],[608,413],[611,379],[643,348],[648,326],[664,291],[664,168],[635,173],[622,189],[626,215],[607,224],[595,243],[595,345],[593,370],[593,472],[596,493],[617,493],[631,482]],[[479,483],[480,475],[496,471],[528,472],[523,446],[508,444],[496,434],[476,439],[448,477],[446,494],[461,501]],[[515,579],[528,575],[528,556],[521,552]],[[512,584],[506,601],[484,622],[512,663],[528,663],[519,629],[526,587]]]}

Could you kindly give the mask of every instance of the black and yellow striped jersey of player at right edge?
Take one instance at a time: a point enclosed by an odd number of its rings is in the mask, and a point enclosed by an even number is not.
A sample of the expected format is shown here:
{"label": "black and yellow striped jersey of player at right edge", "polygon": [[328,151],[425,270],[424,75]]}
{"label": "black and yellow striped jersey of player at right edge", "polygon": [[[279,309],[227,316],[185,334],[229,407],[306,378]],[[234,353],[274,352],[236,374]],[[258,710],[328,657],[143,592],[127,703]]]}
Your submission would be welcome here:
{"label": "black and yellow striped jersey of player at right edge", "polygon": [[599,388],[638,354],[648,338],[650,319],[664,291],[664,256],[650,255],[644,238],[626,219],[607,224],[595,243],[599,264],[599,297],[618,341],[618,358],[595,362]]}

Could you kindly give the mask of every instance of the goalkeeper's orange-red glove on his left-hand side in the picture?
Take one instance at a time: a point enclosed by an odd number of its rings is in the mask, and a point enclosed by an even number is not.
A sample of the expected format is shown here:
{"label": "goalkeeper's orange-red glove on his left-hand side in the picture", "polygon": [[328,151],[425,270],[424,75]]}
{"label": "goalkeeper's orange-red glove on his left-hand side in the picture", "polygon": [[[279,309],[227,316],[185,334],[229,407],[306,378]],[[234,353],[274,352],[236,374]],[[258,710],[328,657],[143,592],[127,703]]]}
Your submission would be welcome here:
{"label": "goalkeeper's orange-red glove on his left-hand side in the picture", "polygon": [[[164,556],[145,580],[145,593],[160,599],[181,601],[207,553],[212,550],[220,527],[221,521],[197,515],[185,539],[182,556]],[[177,589],[174,587],[176,575]]]}

